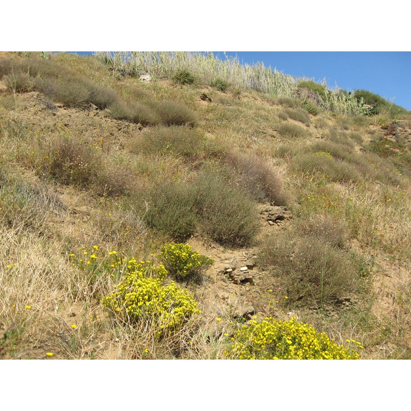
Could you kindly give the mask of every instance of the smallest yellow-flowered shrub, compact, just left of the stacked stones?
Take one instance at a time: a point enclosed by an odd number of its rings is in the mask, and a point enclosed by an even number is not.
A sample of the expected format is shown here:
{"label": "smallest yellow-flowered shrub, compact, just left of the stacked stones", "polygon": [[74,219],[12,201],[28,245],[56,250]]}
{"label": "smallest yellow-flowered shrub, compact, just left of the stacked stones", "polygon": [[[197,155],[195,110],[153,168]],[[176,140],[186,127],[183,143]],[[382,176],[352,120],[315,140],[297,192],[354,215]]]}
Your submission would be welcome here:
{"label": "smallest yellow-flowered shrub, compact, just left of the stacked stones", "polygon": [[195,276],[214,262],[212,258],[194,251],[189,244],[175,242],[161,247],[159,257],[167,271],[178,278]]}

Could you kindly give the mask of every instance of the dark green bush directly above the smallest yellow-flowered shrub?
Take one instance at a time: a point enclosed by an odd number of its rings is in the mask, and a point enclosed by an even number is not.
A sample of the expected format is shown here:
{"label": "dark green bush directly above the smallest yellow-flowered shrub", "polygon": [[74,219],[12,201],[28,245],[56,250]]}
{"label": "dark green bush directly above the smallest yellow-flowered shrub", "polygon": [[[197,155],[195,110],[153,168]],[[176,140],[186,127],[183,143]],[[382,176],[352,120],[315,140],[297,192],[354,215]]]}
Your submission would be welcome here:
{"label": "dark green bush directly above the smallest yellow-flowered shrub", "polygon": [[143,220],[157,233],[184,241],[194,234],[194,191],[183,181],[159,181],[145,195]]}

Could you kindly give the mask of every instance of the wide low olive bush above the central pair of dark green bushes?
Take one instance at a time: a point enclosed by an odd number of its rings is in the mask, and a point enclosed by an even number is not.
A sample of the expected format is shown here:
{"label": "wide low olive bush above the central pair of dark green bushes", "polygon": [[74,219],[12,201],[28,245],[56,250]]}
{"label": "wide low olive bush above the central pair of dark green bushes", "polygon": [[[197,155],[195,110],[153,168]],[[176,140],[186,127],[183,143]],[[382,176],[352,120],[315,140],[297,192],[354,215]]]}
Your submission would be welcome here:
{"label": "wide low olive bush above the central pair of dark green bushes", "polygon": [[133,153],[173,154],[190,160],[200,158],[206,141],[189,127],[172,125],[146,128],[133,143]]}

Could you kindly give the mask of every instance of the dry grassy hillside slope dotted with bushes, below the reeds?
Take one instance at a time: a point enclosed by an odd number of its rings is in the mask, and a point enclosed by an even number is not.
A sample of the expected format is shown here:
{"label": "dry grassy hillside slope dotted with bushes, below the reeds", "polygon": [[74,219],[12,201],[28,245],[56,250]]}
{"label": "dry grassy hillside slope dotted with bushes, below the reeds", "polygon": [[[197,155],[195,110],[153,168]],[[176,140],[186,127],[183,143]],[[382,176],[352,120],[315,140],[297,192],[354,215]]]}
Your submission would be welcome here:
{"label": "dry grassy hillside slope dotted with bushes, below the reeds", "polygon": [[[110,68],[0,56],[1,358],[230,358],[265,317],[410,358],[409,118],[396,139],[384,115]],[[111,315],[169,242],[213,259],[169,270],[201,312],[170,333]]]}

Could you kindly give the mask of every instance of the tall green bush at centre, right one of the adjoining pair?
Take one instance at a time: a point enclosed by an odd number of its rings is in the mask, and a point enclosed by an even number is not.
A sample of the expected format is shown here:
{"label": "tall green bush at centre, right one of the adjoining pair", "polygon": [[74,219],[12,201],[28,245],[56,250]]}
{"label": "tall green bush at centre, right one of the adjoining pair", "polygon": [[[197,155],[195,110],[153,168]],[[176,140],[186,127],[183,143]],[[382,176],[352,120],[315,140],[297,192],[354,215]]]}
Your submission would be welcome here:
{"label": "tall green bush at centre, right one of the adjoining pair", "polygon": [[227,246],[245,246],[258,231],[255,205],[217,170],[206,167],[196,180],[196,207],[204,234]]}

